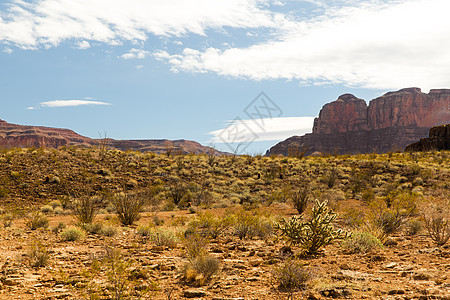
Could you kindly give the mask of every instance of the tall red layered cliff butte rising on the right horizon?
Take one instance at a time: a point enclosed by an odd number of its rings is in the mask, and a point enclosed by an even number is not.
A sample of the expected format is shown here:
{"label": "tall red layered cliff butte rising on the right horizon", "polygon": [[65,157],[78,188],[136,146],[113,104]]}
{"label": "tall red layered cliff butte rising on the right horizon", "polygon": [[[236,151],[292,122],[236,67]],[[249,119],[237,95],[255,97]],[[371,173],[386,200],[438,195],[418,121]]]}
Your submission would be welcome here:
{"label": "tall red layered cliff butte rising on the right horizon", "polygon": [[407,88],[373,99],[369,105],[351,94],[325,104],[313,132],[273,146],[268,154],[297,149],[326,153],[371,153],[403,149],[427,136],[431,127],[450,122],[450,89],[422,93]]}

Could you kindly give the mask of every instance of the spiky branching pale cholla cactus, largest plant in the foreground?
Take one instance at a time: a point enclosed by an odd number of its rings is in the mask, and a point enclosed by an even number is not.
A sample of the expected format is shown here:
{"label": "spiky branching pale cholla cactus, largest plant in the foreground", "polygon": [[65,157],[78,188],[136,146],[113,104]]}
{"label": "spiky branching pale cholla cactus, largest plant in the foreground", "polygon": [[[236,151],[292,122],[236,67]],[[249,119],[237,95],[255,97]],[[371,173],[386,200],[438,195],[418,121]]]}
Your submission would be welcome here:
{"label": "spiky branching pale cholla cactus, largest plant in the foreground", "polygon": [[327,206],[327,201],[316,200],[309,220],[304,221],[302,215],[289,220],[281,219],[276,228],[289,242],[300,245],[306,254],[315,255],[322,247],[347,237],[341,229],[334,229],[336,217],[337,214]]}

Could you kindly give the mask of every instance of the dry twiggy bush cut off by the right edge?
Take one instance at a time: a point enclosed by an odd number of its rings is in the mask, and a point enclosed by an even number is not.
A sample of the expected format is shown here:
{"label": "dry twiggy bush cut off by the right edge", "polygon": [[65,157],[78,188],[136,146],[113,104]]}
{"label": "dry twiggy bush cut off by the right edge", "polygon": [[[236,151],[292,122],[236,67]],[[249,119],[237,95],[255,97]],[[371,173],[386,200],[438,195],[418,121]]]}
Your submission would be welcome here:
{"label": "dry twiggy bush cut off by the right edge", "polygon": [[450,203],[446,202],[431,204],[423,214],[428,235],[437,246],[445,245],[450,239]]}

